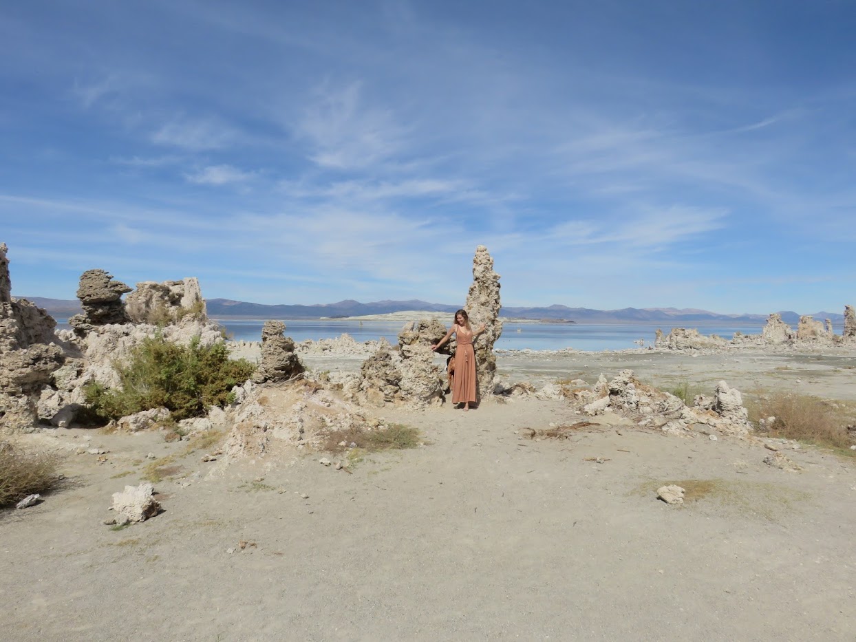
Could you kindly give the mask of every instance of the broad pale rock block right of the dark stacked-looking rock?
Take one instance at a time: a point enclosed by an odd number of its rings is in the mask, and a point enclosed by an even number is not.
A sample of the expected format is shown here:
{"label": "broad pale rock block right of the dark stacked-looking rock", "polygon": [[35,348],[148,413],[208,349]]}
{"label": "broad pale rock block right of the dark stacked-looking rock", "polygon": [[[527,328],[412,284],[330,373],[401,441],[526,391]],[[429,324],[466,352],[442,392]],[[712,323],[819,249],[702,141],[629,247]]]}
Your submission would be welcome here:
{"label": "broad pale rock block right of the dark stacked-looking rock", "polygon": [[125,297],[128,318],[135,324],[173,324],[190,317],[205,322],[205,300],[199,279],[190,276],[181,281],[144,281]]}

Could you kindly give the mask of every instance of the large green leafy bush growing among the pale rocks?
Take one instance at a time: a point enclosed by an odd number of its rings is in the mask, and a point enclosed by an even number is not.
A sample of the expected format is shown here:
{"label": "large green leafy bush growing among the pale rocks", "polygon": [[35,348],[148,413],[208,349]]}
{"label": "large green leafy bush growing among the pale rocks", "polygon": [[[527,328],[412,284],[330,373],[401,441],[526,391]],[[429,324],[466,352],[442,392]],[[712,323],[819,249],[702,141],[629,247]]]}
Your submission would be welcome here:
{"label": "large green leafy bush growing among the pale rocks", "polygon": [[157,407],[176,420],[198,417],[209,406],[232,401],[229,391],[254,369],[247,360],[230,360],[223,343],[206,348],[197,337],[182,346],[158,335],[134,348],[127,365],[116,364],[120,388],[89,383],[86,402],[104,419]]}

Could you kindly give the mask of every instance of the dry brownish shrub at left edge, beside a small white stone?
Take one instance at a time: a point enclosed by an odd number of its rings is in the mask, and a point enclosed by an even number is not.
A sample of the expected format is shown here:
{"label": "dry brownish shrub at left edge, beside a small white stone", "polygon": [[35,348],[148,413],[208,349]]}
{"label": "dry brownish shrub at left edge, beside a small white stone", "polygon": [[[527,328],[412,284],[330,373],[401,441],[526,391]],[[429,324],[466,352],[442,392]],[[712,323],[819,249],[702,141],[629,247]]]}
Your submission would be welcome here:
{"label": "dry brownish shrub at left edge, beside a small white stone", "polygon": [[0,508],[51,490],[59,481],[60,463],[60,455],[0,442]]}

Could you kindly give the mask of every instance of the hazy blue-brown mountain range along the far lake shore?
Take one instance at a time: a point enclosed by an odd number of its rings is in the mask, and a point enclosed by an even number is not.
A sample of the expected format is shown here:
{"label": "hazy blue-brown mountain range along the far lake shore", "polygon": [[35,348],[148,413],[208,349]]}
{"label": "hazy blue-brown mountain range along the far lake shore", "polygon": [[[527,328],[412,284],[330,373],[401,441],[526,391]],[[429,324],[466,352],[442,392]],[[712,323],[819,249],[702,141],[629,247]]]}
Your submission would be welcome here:
{"label": "hazy blue-brown mountain range along the far lake shore", "polygon": [[[55,317],[68,317],[80,312],[80,301],[45,299],[44,297],[21,297],[33,301],[45,308]],[[312,306],[270,306],[247,301],[229,299],[210,299],[206,301],[208,316],[211,318],[286,318],[317,319],[362,317],[370,314],[387,314],[420,310],[427,312],[453,313],[457,306],[442,303],[429,303],[413,299],[404,301],[373,301],[360,303],[356,300],[342,300],[336,303],[315,304]],[[767,314],[719,314],[707,310],[682,309],[674,307],[626,307],[621,310],[593,310],[587,307],[546,306],[512,307],[503,306],[500,314],[508,318],[526,318],[533,320],[565,321],[578,324],[670,324],[675,327],[689,324],[764,324]],[[791,311],[779,312],[786,324],[796,325],[800,314]],[[817,320],[831,319],[841,324],[843,314],[835,312],[815,312],[811,315]]]}

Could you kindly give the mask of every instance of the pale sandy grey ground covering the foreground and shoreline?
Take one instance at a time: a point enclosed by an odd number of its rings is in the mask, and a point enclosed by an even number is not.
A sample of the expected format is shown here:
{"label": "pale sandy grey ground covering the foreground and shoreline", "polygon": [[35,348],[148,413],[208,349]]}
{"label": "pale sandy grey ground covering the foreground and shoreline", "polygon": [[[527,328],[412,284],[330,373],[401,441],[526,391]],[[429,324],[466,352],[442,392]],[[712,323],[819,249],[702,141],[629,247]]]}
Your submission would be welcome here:
{"label": "pale sandy grey ground covering the foreground and shoreline", "polygon": [[[528,380],[629,367],[651,383],[856,394],[847,355],[499,364]],[[853,460],[783,445],[804,467],[788,473],[762,462],[760,441],[664,437],[615,416],[563,440],[515,433],[583,419],[564,401],[378,412],[418,427],[425,445],[370,455],[351,474],[318,453],[227,466],[198,451],[155,484],[163,513],[121,531],[102,524],[111,494],[140,482],[147,453],[185,444],[34,438],[110,452],[69,455],[66,488],[0,514],[2,639],[856,639]],[[706,495],[668,506],[656,499],[667,483]]]}

